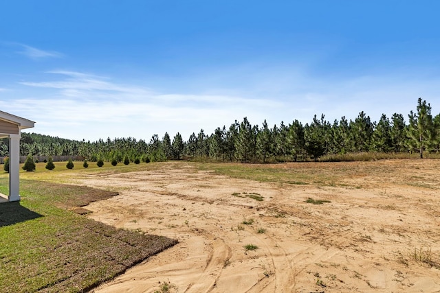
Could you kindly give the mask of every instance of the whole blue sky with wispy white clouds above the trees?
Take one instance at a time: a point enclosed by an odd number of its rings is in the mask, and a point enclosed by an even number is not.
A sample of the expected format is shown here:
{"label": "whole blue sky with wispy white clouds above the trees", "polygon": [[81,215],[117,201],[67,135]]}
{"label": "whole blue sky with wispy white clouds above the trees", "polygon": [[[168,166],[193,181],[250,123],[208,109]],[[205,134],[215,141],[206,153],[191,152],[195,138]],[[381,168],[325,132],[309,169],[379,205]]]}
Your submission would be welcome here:
{"label": "whole blue sky with wispy white clouds above the trees", "polygon": [[0,110],[96,141],[440,111],[438,1],[2,1]]}

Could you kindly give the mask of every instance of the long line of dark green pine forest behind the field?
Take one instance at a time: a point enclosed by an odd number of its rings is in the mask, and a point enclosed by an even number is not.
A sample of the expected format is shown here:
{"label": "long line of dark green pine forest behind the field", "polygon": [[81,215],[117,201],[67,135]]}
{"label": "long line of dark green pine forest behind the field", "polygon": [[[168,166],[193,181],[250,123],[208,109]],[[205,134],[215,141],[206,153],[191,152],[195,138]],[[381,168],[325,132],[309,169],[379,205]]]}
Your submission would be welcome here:
{"label": "long line of dark green pine forest behind the field", "polygon": [[[98,141],[74,141],[43,134],[21,134],[22,156],[83,156],[87,161],[238,161],[242,163],[274,163],[286,161],[318,161],[322,156],[353,153],[410,154],[420,158],[440,149],[440,114],[432,117],[431,106],[421,98],[417,109],[408,115],[408,124],[401,114],[391,118],[382,115],[371,121],[364,112],[348,121],[342,117],[333,123],[325,115],[316,116],[305,125],[294,120],[272,127],[263,121],[252,125],[245,117],[206,134],[201,129],[184,141],[177,133],[168,132],[162,139],[157,134],[147,143],[129,138]],[[0,156],[8,156],[8,139],[0,140]]]}

